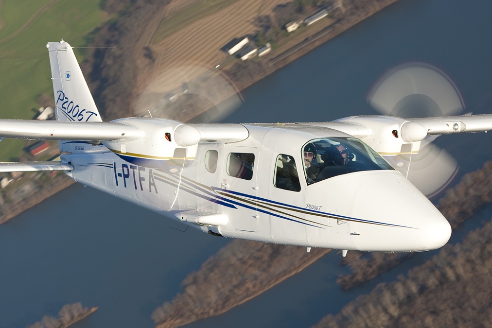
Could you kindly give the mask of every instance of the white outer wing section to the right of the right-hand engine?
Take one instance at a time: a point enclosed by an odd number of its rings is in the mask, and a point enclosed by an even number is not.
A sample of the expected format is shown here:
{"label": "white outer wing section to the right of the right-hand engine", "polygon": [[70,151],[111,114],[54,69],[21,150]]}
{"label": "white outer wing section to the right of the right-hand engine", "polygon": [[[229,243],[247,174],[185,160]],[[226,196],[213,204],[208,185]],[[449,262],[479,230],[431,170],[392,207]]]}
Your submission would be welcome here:
{"label": "white outer wing section to the right of the right-hand engine", "polygon": [[492,114],[444,116],[408,120],[424,126],[428,135],[487,132],[492,129]]}

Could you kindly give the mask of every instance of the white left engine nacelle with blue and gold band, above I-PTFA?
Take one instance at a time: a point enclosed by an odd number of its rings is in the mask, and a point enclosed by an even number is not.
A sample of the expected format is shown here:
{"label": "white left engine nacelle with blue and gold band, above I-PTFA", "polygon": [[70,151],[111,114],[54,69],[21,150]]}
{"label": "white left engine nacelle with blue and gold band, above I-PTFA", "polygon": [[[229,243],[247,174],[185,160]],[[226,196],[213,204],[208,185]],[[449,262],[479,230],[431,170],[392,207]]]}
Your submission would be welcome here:
{"label": "white left engine nacelle with blue and gold band, above I-PTFA", "polygon": [[137,127],[140,138],[104,141],[103,145],[125,161],[149,168],[178,173],[191,165],[200,141],[200,132],[193,126],[172,119],[128,118],[113,122]]}

